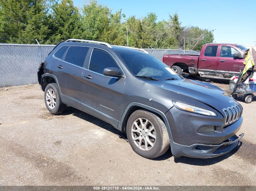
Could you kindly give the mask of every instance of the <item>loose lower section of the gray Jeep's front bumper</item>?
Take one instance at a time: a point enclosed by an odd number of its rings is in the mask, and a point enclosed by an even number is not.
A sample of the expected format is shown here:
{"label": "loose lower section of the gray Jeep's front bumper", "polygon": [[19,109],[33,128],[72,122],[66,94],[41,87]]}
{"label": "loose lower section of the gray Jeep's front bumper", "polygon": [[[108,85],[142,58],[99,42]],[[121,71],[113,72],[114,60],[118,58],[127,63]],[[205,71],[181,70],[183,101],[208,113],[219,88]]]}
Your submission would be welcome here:
{"label": "loose lower section of the gray Jeep's front bumper", "polygon": [[192,158],[213,158],[226,154],[233,150],[239,143],[244,133],[237,137],[236,135],[227,139],[218,145],[193,144],[190,146],[179,145],[170,139],[171,153],[175,158],[187,156]]}

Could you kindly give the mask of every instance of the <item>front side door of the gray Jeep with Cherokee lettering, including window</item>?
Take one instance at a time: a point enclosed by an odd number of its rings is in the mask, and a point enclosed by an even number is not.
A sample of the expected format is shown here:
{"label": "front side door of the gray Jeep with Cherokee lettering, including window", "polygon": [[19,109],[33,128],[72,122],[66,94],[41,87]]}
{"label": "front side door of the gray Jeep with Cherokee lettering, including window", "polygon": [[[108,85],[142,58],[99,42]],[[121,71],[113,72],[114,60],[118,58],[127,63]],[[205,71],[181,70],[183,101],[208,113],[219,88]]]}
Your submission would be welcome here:
{"label": "front side door of the gray Jeep with Cherokee lettering, including window", "polygon": [[107,117],[103,120],[113,123],[113,120],[117,122],[120,116],[125,78],[103,75],[103,70],[108,67],[120,69],[117,61],[109,53],[94,48],[88,69],[84,69],[82,74],[81,102],[83,110],[87,110],[89,103],[90,107],[96,109],[93,115],[98,115],[102,119],[104,113],[113,119]]}

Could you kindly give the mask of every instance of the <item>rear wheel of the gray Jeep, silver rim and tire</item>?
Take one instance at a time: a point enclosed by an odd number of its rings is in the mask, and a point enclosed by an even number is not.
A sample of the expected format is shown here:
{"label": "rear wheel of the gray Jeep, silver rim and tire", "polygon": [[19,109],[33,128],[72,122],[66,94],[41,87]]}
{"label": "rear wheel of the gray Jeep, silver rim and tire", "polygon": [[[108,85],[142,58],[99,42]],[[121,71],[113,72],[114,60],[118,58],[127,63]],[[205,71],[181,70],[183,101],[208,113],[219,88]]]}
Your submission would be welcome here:
{"label": "rear wheel of the gray Jeep, silver rim and tire", "polygon": [[45,105],[50,113],[62,113],[65,105],[61,101],[60,93],[57,84],[48,84],[45,88]]}

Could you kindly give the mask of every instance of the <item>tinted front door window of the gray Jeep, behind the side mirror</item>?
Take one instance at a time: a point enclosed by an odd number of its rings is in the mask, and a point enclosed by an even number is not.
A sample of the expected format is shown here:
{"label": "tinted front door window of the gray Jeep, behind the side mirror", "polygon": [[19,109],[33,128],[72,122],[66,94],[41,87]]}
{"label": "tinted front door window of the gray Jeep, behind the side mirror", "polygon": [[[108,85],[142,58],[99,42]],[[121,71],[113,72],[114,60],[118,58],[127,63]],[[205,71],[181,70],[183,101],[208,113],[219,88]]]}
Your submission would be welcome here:
{"label": "tinted front door window of the gray Jeep, behind the side mirror", "polygon": [[115,60],[105,51],[93,49],[89,70],[103,74],[103,70],[108,67],[119,68]]}

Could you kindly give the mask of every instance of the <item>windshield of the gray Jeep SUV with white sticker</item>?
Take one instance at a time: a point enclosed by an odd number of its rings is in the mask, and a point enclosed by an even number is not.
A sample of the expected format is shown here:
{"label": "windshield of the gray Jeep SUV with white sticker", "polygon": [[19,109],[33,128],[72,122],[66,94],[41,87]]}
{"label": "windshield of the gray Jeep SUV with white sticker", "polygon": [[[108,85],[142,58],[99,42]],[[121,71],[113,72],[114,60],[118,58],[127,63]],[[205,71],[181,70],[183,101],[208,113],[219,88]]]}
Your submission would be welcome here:
{"label": "windshield of the gray Jeep SUV with white sticker", "polygon": [[181,79],[171,68],[154,56],[140,53],[117,52],[134,76],[151,80]]}

